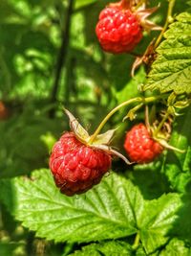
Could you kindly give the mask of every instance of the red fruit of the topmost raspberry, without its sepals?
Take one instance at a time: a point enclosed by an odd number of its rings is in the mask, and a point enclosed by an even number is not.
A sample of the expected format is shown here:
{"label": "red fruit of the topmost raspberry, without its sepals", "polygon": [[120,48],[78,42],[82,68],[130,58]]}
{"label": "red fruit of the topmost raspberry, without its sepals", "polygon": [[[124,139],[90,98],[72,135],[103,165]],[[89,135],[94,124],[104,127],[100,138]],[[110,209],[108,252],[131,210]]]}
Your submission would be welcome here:
{"label": "red fruit of the topmost raspberry, without its sepals", "polygon": [[120,7],[107,7],[99,14],[96,35],[101,48],[109,53],[129,53],[142,38],[136,15]]}

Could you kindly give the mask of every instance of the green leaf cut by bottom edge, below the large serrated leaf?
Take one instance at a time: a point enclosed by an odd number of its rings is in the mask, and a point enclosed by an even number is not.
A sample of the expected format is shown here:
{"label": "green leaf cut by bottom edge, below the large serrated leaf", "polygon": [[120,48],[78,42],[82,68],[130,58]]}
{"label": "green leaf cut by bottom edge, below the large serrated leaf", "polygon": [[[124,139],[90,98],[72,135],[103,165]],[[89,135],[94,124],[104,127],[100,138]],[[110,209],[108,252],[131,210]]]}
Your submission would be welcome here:
{"label": "green leaf cut by bottom edge, below the large serrated leaf", "polygon": [[133,250],[130,244],[118,241],[105,242],[100,244],[90,244],[82,247],[82,250],[77,250],[70,254],[71,256],[111,256],[124,255],[133,256]]}

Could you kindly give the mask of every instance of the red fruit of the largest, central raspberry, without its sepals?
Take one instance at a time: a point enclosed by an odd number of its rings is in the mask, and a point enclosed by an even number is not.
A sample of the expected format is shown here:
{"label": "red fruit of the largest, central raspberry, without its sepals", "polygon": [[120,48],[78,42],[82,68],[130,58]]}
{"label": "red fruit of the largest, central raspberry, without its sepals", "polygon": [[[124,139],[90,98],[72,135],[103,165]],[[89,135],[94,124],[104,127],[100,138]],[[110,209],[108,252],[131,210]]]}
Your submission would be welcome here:
{"label": "red fruit of the largest, central raspberry, without its sepals", "polygon": [[50,168],[56,186],[67,196],[91,189],[110,167],[110,154],[82,144],[73,132],[64,133],[53,146]]}

